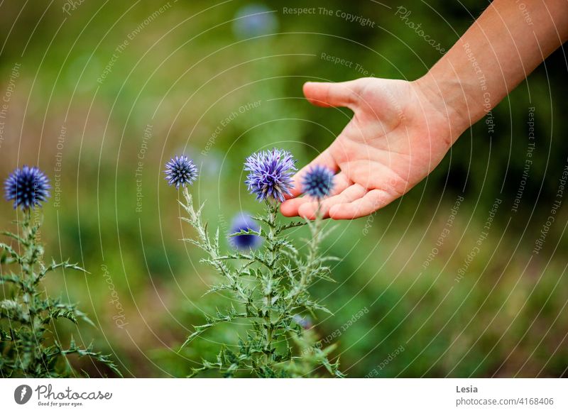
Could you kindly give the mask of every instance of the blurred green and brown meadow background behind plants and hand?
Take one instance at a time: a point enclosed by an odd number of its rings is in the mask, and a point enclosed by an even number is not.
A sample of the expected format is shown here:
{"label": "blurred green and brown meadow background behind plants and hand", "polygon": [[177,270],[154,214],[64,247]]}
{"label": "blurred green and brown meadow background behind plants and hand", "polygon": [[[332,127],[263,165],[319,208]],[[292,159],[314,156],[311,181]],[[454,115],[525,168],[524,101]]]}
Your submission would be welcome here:
{"label": "blurred green and brown meadow background behind plants and hand", "polygon": [[[59,331],[113,353],[127,377],[183,376],[216,353],[218,341],[233,338],[231,326],[178,353],[200,312],[226,300],[202,297],[217,276],[199,263],[200,251],[179,241],[191,231],[163,179],[165,161],[182,152],[194,158],[202,176],[193,192],[207,201],[210,225],[226,232],[234,214],[261,208],[244,185],[247,155],[276,146],[303,165],[349,121],[347,110],[310,106],[303,82],[354,79],[364,75],[359,67],[416,79],[440,53],[397,7],[449,49],[486,4],[2,3],[1,176],[23,164],[45,170],[53,185],[41,232],[47,256],[77,260],[90,272],[54,275],[46,288],[79,302],[98,331],[65,323]],[[283,11],[298,6],[370,23]],[[334,65],[322,53],[353,64]],[[371,218],[337,224],[326,245],[342,258],[337,283],[313,290],[334,316],[323,314],[314,329],[322,338],[339,329],[336,356],[349,377],[567,375],[563,206],[542,250],[532,253],[567,163],[566,75],[558,50],[493,111],[495,133],[479,122],[403,199]],[[530,107],[536,146],[515,212]],[[464,202],[449,228],[458,197]],[[497,198],[491,230],[470,263]],[[0,214],[1,226],[13,228],[9,203]],[[361,310],[368,311],[344,329]],[[101,374],[99,366],[77,363]]]}

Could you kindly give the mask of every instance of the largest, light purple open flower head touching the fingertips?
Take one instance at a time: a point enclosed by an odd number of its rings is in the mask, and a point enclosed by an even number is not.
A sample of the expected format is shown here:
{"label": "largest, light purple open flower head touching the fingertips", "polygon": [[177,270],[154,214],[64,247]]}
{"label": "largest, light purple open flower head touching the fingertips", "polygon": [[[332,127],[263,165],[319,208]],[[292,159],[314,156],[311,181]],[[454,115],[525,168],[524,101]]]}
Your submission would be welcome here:
{"label": "largest, light purple open flower head touching the fingertips", "polygon": [[258,201],[275,199],[284,202],[293,188],[292,175],[296,170],[295,159],[286,150],[273,149],[253,153],[246,158],[244,170],[249,171],[246,185]]}

